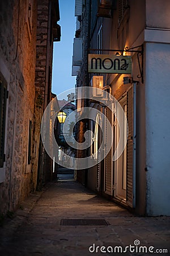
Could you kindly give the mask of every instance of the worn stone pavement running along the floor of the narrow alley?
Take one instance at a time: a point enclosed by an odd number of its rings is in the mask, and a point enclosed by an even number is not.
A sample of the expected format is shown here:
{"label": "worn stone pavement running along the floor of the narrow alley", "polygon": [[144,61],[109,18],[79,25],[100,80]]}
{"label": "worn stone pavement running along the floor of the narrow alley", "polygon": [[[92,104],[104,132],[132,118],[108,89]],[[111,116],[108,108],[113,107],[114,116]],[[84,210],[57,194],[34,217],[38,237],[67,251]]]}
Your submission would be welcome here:
{"label": "worn stone pavement running along the floor of the narrow alley", "polygon": [[[31,195],[23,207],[0,228],[0,255],[151,255],[146,253],[150,246],[152,251],[169,251],[156,255],[170,255],[168,217],[134,216],[76,181],[50,183],[44,192]],[[63,218],[104,219],[110,225],[63,226]],[[141,253],[137,253],[139,246],[118,253],[134,246],[134,241],[145,246]]]}

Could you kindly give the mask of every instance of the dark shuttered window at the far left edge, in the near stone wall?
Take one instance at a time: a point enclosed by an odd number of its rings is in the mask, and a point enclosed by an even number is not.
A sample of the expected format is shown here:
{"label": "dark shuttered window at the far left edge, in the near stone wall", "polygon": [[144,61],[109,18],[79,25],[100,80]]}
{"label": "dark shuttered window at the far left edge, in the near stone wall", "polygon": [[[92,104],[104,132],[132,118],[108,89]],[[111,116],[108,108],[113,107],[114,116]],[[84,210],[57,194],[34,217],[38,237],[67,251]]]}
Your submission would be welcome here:
{"label": "dark shuttered window at the far left edge, in the near stone wall", "polygon": [[6,121],[6,99],[7,99],[7,82],[0,73],[0,168],[5,162],[5,121]]}

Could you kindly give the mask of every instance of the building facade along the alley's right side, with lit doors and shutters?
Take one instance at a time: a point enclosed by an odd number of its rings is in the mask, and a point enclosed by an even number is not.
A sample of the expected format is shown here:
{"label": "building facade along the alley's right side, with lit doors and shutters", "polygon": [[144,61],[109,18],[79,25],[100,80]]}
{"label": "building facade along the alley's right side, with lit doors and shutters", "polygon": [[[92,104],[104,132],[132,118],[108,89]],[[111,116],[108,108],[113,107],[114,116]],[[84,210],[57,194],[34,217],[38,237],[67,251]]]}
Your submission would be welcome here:
{"label": "building facade along the alley's right side, with lit doors and shutters", "polygon": [[[82,14],[78,16],[80,28],[75,34],[79,38],[83,37],[83,27],[87,26],[83,19],[85,2],[75,2],[76,6],[82,6]],[[85,86],[97,87],[95,79],[102,79],[103,90],[117,100],[110,102],[112,112],[100,102],[91,104],[109,119],[113,127],[113,143],[106,158],[88,169],[87,186],[133,209],[135,213],[169,215],[169,1],[91,0],[88,6],[86,11],[91,17],[88,47],[84,53],[83,44],[82,56],[87,56],[87,50],[96,58],[99,54],[121,56],[121,60],[130,56],[132,68],[129,75],[124,71],[101,73],[100,70],[84,75],[87,78]],[[112,61],[110,64],[105,69],[111,69]],[[83,76],[82,69],[87,70],[87,67],[79,65],[74,74],[77,75],[77,86],[83,86],[79,82]],[[127,144],[118,159],[114,158],[120,140],[120,126],[116,118],[120,113],[116,104],[122,106],[128,121],[128,127],[124,125],[122,130],[124,140],[128,138]],[[95,125],[88,122],[87,126],[95,132]],[[94,138],[96,143],[100,138],[99,130]],[[91,150],[88,151],[90,154]]]}

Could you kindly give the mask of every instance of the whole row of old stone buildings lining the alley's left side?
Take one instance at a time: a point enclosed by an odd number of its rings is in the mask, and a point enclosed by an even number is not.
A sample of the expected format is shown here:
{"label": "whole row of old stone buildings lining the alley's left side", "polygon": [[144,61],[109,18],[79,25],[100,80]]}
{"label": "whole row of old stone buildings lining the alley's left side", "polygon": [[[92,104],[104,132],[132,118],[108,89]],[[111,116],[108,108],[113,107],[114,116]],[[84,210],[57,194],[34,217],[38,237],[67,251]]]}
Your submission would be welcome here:
{"label": "whole row of old stone buildings lining the alley's left side", "polygon": [[1,213],[15,210],[35,191],[37,170],[39,183],[40,174],[45,181],[40,124],[51,97],[53,42],[60,38],[58,20],[58,1],[0,3]]}

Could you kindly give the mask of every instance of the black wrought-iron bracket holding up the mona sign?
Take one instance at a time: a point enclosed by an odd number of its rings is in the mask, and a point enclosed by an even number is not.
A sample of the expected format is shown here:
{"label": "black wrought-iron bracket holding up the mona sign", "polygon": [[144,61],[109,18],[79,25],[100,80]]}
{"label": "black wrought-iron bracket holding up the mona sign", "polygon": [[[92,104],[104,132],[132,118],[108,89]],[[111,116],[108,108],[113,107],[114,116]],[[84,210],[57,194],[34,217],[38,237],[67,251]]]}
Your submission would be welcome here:
{"label": "black wrought-iron bracket holding up the mona sign", "polygon": [[[140,49],[139,49],[140,48]],[[125,47],[125,49],[88,49],[88,53],[90,52],[134,52],[137,53],[138,65],[139,65],[139,75],[137,75],[138,79],[141,79],[143,84],[143,44],[141,46],[135,46],[132,48]],[[141,61],[140,61],[141,56]]]}

